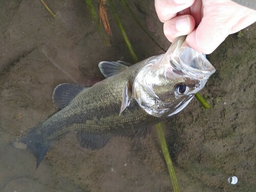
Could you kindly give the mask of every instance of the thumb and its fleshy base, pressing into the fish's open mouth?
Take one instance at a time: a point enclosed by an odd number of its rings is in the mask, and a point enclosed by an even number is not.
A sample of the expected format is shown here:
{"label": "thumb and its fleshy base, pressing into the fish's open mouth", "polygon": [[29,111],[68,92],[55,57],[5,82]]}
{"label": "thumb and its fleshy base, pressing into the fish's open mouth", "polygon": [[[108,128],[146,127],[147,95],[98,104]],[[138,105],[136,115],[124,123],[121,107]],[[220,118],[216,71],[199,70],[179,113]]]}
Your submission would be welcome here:
{"label": "thumb and its fleshy base, pressing into the fish's open mouth", "polygon": [[[229,34],[247,27],[256,20],[255,11],[236,3],[227,1],[225,4],[213,6],[212,2],[204,4],[204,15],[199,26],[186,37],[189,47],[205,54],[212,53]],[[253,11],[254,15],[250,11]],[[193,15],[193,10],[191,14]]]}

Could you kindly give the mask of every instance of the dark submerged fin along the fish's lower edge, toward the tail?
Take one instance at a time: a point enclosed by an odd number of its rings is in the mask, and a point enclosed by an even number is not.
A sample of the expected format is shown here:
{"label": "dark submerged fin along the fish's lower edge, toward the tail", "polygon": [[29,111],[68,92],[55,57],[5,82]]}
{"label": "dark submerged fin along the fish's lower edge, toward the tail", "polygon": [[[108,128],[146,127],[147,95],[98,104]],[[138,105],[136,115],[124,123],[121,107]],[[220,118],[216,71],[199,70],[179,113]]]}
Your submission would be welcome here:
{"label": "dark submerged fin along the fish's lower edge, toward the tail", "polygon": [[90,150],[99,150],[108,143],[111,135],[97,135],[83,132],[77,133],[77,140],[81,147],[90,148]]}

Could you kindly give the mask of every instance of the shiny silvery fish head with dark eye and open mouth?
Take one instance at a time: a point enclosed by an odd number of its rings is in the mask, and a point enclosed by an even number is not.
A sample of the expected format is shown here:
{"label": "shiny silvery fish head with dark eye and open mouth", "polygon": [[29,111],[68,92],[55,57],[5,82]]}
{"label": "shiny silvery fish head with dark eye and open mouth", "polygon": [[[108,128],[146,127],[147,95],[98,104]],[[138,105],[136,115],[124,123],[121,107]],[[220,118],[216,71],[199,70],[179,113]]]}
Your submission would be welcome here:
{"label": "shiny silvery fish head with dark eye and open mouth", "polygon": [[168,50],[138,72],[133,97],[148,114],[169,117],[184,109],[214,72],[205,55],[194,49],[181,47],[175,54]]}

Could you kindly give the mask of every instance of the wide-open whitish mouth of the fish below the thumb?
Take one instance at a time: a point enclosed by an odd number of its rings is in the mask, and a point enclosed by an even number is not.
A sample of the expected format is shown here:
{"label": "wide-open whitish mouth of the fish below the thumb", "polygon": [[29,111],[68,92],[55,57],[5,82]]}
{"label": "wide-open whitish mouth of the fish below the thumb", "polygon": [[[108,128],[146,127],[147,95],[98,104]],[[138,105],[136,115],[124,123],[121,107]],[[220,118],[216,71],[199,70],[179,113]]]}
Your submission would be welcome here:
{"label": "wide-open whitish mouth of the fish below the thumb", "polygon": [[181,47],[169,61],[175,69],[199,80],[208,79],[216,71],[204,54],[189,47]]}

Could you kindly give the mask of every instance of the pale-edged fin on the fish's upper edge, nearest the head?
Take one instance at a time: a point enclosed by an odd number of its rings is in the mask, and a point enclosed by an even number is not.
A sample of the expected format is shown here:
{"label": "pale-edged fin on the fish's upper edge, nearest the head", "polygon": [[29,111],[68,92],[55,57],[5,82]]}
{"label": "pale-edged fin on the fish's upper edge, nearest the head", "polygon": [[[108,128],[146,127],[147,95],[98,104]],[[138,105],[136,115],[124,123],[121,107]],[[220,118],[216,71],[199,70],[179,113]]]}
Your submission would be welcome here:
{"label": "pale-edged fin on the fish's upper edge, nearest the head", "polygon": [[131,64],[124,62],[124,61],[101,61],[99,63],[99,70],[106,78],[111,77],[113,75],[116,75],[118,73],[121,73],[128,67],[130,67]]}

